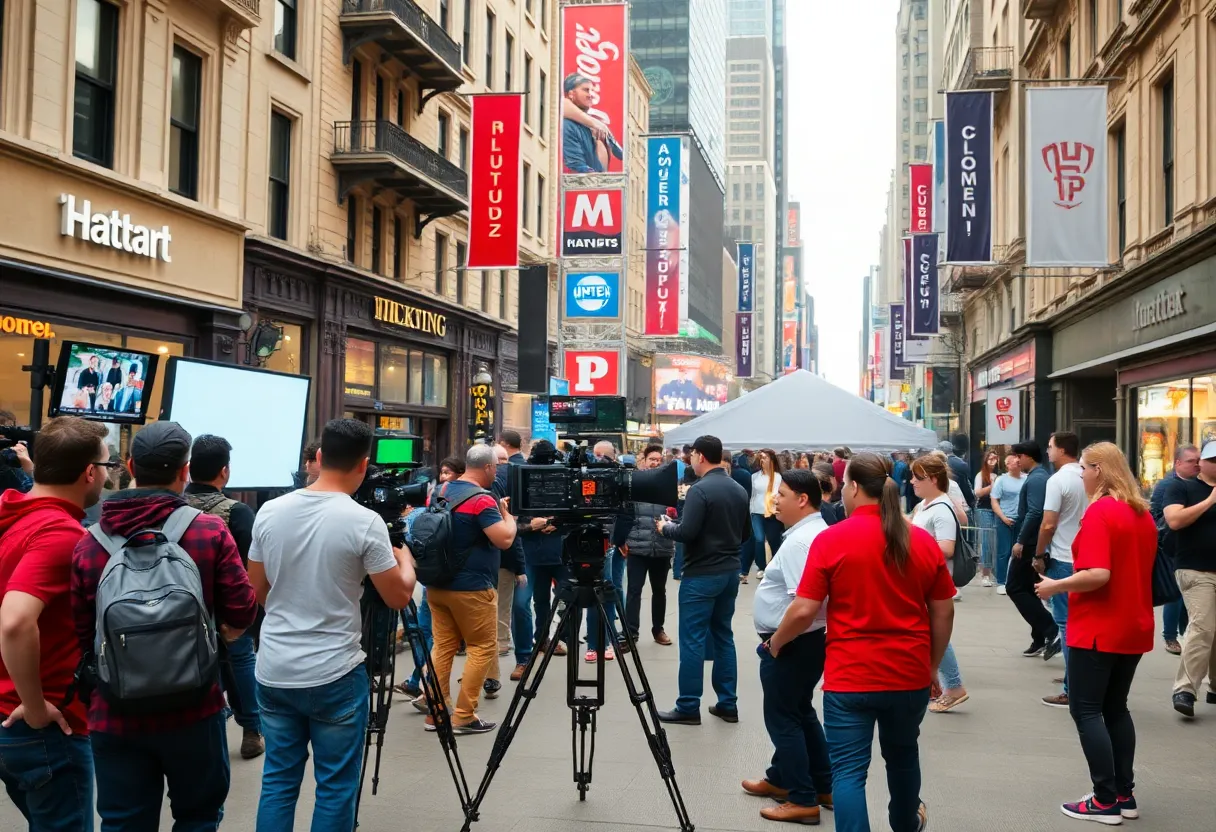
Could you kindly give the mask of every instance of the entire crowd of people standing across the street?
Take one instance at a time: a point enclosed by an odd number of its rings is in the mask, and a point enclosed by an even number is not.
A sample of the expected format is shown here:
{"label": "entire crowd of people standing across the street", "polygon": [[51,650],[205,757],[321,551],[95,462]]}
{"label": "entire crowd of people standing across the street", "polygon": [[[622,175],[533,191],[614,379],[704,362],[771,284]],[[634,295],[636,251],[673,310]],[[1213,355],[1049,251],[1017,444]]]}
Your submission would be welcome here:
{"label": "entire crowd of people standing across the street", "polygon": [[[257,512],[225,495],[224,438],[156,422],[119,461],[106,437],[96,422],[51,420],[28,467],[32,484],[0,497],[0,781],[11,800],[32,830],[91,830],[96,808],[103,830],[151,832],[168,788],[175,828],[216,828],[232,718],[241,757],[264,755],[259,832],[293,827],[309,759],[313,827],[353,830],[372,685],[365,580],[389,607],[409,605],[426,583],[411,535],[429,510],[405,513],[406,545],[394,546],[384,519],[350,499],[373,442],[355,420],[327,423],[304,451],[303,488]],[[426,731],[437,730],[435,708],[450,705],[457,733],[491,732],[480,701],[502,692],[500,662],[511,656],[508,679],[519,681],[550,640],[565,653],[584,650],[585,635],[586,662],[617,659],[629,645],[617,634],[640,637],[647,589],[653,641],[679,648],[677,697],[660,721],[702,723],[708,662],[706,713],[737,724],[732,623],[754,574],[773,753],[743,791],[770,799],[766,820],[816,823],[832,810],[838,830],[867,831],[877,727],[890,827],[924,830],[922,720],[970,699],[951,635],[973,556],[981,588],[1007,595],[1025,620],[1023,654],[1062,659],[1060,690],[1043,703],[1070,712],[1092,781],[1090,794],[1060,808],[1065,815],[1109,825],[1138,816],[1127,695],[1154,647],[1162,580],[1175,605],[1165,648],[1181,653],[1172,705],[1193,716],[1205,678],[1216,703],[1216,443],[1180,448],[1148,499],[1115,445],[1082,449],[1066,432],[1052,434],[1046,461],[1026,440],[1003,463],[986,450],[974,473],[951,443],[918,454],[731,456],[711,435],[636,455],[601,442],[589,461],[675,465],[680,499],[630,504],[606,522],[603,580],[623,601],[623,620],[613,606],[603,619],[590,614],[585,631],[573,622],[564,633],[551,620],[570,577],[562,528],[552,517],[516,517],[507,495],[510,466],[552,463],[563,451],[537,440],[525,456],[524,445],[506,431],[443,460],[429,484],[428,504],[449,512],[458,557],[451,574],[422,588],[417,618],[405,617],[444,697],[427,701],[421,668],[398,686],[427,714]],[[116,490],[122,468],[130,483]],[[1165,579],[1162,564],[1176,567]],[[145,574],[159,589],[140,584]]]}

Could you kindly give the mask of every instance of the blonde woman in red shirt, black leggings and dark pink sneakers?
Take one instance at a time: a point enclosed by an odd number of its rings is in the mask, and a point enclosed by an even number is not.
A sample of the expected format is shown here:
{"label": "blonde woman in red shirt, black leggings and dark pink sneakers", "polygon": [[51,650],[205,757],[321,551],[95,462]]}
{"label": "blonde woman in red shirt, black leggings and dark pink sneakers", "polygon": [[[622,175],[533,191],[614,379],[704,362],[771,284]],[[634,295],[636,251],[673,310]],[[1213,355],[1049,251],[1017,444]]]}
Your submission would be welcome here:
{"label": "blonde woman in red shirt, black leggings and dark pink sneakers", "polygon": [[1156,525],[1122,452],[1109,442],[1081,454],[1090,507],[1073,541],[1076,572],[1043,578],[1046,600],[1069,594],[1069,712],[1081,735],[1093,794],[1060,810],[1109,826],[1139,817],[1132,794],[1136,729],[1127,692],[1141,656],[1153,650]]}

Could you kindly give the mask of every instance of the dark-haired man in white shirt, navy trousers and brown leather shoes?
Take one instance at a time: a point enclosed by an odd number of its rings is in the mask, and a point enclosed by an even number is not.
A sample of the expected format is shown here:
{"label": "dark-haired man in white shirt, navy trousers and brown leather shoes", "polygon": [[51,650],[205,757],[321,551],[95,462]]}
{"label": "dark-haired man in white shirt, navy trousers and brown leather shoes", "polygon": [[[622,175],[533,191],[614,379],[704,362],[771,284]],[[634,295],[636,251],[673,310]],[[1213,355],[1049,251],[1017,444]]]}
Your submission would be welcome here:
{"label": "dark-haired man in white shirt, navy trousers and brown leather shoes", "polygon": [[744,780],[743,791],[779,800],[760,810],[761,817],[773,821],[817,823],[820,805],[831,805],[832,799],[828,744],[812,703],[823,675],[827,605],[803,635],[782,647],[779,658],[766,648],[798,592],[811,541],[828,527],[820,517],[822,499],[810,471],[794,468],[783,474],[773,504],[786,533],[756,588],[753,608],[761,641],[764,724],[773,754],[764,778]]}

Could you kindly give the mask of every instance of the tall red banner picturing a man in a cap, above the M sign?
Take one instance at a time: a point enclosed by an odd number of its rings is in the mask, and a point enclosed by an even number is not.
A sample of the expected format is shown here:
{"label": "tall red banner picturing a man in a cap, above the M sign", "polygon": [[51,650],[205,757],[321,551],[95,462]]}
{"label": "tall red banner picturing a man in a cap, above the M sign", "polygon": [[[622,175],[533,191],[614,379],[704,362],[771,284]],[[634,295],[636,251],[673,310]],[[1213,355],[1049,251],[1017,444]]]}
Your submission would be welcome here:
{"label": "tall red banner picturing a man in a cap, above the M sign", "polygon": [[625,170],[627,35],[623,2],[562,6],[562,173]]}

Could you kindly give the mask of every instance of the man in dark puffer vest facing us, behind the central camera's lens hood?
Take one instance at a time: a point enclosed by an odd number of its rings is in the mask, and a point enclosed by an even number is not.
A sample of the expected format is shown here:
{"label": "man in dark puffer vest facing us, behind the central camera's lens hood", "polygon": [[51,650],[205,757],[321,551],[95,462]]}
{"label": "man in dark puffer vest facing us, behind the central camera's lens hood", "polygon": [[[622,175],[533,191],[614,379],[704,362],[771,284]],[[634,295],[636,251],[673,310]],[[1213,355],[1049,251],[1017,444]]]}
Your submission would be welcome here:
{"label": "man in dark puffer vest facing us, behind the central camera's lens hood", "polygon": [[[637,459],[638,471],[649,471],[663,465],[663,446],[647,445]],[[664,646],[671,637],[664,631],[663,622],[668,609],[668,574],[671,558],[676,553],[672,540],[664,538],[654,528],[659,517],[675,513],[674,508],[653,502],[632,502],[629,512],[617,518],[612,543],[626,558],[629,594],[625,600],[625,626],[637,641],[642,618],[642,588],[651,580],[651,635]]]}

